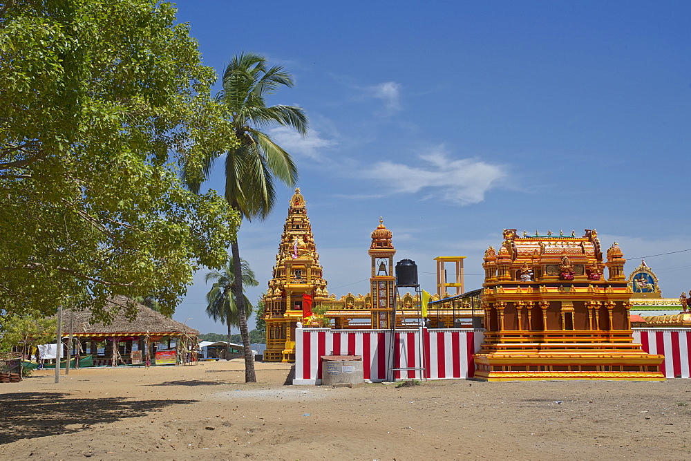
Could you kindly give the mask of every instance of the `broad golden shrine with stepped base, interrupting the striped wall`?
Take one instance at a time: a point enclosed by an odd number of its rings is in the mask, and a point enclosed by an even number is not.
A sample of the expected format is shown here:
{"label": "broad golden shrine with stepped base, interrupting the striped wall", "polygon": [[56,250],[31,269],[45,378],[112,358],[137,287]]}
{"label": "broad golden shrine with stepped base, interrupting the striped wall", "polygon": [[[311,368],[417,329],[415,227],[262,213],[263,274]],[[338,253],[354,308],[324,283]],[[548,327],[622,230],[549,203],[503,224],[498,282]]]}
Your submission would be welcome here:
{"label": "broad golden shrine with stepped base, interrupting the striped wall", "polygon": [[632,337],[625,261],[616,243],[603,261],[594,229],[583,237],[505,229],[499,251],[484,254],[486,332],[475,377],[664,380],[663,356]]}

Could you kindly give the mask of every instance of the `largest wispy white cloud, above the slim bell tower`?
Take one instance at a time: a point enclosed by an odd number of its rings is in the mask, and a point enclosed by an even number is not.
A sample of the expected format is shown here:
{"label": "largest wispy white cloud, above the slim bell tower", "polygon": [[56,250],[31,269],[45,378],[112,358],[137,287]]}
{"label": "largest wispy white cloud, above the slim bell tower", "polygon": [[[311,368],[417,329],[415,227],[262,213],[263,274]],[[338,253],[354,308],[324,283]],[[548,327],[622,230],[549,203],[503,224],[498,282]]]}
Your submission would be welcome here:
{"label": "largest wispy white cloud, above the slim bell tower", "polygon": [[484,200],[484,194],[507,176],[502,165],[489,164],[477,158],[454,160],[444,146],[419,156],[422,166],[379,162],[367,171],[368,178],[384,182],[388,195],[419,194],[420,198],[442,198],[459,205]]}

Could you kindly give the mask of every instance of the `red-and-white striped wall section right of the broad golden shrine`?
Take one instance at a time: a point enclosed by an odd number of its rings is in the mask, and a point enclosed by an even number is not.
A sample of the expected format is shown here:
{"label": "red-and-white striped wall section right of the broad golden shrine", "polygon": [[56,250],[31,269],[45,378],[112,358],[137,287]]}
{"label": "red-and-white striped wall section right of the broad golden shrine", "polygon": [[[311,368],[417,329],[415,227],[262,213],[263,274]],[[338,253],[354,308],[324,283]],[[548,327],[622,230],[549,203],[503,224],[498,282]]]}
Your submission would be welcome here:
{"label": "red-and-white striped wall section right of the broad golden shrine", "polygon": [[660,367],[665,377],[691,377],[691,329],[634,328],[634,342],[649,354],[665,356]]}

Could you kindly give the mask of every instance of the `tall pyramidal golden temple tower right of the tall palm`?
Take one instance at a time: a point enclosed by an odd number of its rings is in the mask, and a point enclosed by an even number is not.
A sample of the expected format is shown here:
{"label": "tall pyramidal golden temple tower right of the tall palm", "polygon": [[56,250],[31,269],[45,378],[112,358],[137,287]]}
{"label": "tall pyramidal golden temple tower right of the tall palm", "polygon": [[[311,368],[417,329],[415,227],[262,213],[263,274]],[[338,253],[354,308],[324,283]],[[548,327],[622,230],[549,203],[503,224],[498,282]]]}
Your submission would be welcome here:
{"label": "tall pyramidal golden temple tower right of the tall palm", "polygon": [[264,297],[266,361],[295,360],[295,328],[310,317],[312,305],[328,298],[319,254],[314,246],[305,198],[295,189],[276,254],[273,277]]}

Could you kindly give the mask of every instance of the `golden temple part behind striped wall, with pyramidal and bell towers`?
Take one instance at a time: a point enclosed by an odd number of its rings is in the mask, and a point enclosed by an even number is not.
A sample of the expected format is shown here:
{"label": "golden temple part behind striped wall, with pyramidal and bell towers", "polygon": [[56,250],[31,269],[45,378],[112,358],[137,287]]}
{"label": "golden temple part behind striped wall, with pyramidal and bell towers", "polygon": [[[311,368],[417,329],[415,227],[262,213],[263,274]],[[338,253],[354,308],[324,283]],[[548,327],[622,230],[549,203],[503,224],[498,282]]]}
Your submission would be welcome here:
{"label": "golden temple part behind striped wall, with pyramidal and bell towers", "polygon": [[[370,292],[364,296],[348,293],[337,299],[335,294],[328,294],[305,198],[300,189],[296,189],[290,199],[276,265],[264,297],[267,341],[264,360],[295,360],[298,323],[339,329],[391,328],[395,305],[397,326],[419,326],[420,300],[417,294],[406,293],[401,297],[395,291],[396,278],[392,267],[396,250],[392,235],[380,218],[368,249]],[[457,260],[462,260],[462,257],[451,258],[452,262]],[[462,286],[462,280],[448,285],[454,288]],[[443,297],[448,298],[448,293]],[[432,300],[439,298],[439,294],[435,294]],[[471,308],[468,303],[462,306],[444,303],[433,310],[432,323],[439,326],[446,321],[446,324],[453,325],[454,315],[469,318]]]}

